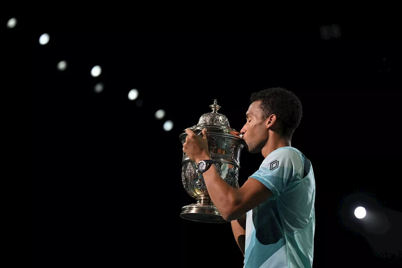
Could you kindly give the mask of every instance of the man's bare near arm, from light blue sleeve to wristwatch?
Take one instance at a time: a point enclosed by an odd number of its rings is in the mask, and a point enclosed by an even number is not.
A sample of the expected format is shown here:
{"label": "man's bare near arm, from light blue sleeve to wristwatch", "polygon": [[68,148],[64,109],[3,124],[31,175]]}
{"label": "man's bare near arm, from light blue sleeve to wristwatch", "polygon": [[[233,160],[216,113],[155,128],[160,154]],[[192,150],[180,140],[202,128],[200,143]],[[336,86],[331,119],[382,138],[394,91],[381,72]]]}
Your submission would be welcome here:
{"label": "man's bare near arm, from light blue sleeve to wristwatch", "polygon": [[[211,159],[205,154],[195,161]],[[225,221],[233,221],[258,206],[273,194],[260,181],[249,178],[240,189],[230,186],[216,170],[215,165],[203,173],[209,197]]]}

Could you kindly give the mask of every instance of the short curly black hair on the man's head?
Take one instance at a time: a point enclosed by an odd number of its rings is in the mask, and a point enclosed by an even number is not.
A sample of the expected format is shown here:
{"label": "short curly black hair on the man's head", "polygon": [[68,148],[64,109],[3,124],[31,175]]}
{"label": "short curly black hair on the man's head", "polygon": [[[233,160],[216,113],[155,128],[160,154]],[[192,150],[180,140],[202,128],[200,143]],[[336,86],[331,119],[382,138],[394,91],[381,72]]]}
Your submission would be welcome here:
{"label": "short curly black hair on the man's head", "polygon": [[275,114],[281,120],[282,136],[291,140],[303,115],[301,101],[295,93],[281,87],[273,87],[252,93],[250,104],[254,101],[261,101],[263,119]]}

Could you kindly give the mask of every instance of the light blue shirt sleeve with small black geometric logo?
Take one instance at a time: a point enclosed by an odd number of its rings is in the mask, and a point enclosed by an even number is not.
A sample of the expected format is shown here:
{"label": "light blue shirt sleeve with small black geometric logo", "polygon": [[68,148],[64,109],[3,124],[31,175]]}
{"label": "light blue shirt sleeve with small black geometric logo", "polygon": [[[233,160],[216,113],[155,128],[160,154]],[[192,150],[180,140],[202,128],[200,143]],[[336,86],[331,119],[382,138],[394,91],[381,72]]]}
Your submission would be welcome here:
{"label": "light blue shirt sleeve with small black geometric logo", "polygon": [[290,148],[278,148],[261,163],[250,177],[263,183],[278,198],[285,190],[301,181],[303,164],[298,153]]}

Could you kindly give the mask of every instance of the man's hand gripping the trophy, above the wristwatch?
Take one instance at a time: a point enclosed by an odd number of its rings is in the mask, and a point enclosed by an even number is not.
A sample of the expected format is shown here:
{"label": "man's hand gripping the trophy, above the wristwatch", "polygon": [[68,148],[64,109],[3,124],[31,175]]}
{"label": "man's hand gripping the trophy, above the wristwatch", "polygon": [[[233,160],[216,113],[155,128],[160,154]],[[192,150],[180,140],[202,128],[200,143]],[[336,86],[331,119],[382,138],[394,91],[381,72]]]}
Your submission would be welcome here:
{"label": "man's hand gripping the trophy, above the wristwatch", "polygon": [[195,134],[191,129],[186,129],[187,137],[183,143],[183,152],[191,159],[198,163],[201,160],[211,159],[208,150],[207,129],[202,130],[202,137]]}

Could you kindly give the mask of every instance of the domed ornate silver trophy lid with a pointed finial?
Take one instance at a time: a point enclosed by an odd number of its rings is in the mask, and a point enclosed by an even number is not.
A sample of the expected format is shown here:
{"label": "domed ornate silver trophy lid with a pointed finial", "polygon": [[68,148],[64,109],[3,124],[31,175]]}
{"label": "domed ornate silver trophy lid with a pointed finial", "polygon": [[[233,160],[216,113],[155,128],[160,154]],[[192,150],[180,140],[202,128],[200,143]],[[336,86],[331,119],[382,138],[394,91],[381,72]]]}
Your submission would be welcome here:
{"label": "domed ornate silver trophy lid with a pointed finial", "polygon": [[230,127],[228,118],[222,113],[218,113],[221,106],[217,104],[216,99],[213,100],[213,104],[209,105],[209,107],[212,111],[201,115],[197,126],[192,126],[191,130],[203,130],[203,128],[206,128],[207,133],[223,134],[224,136],[243,139],[243,135],[240,132]]}

